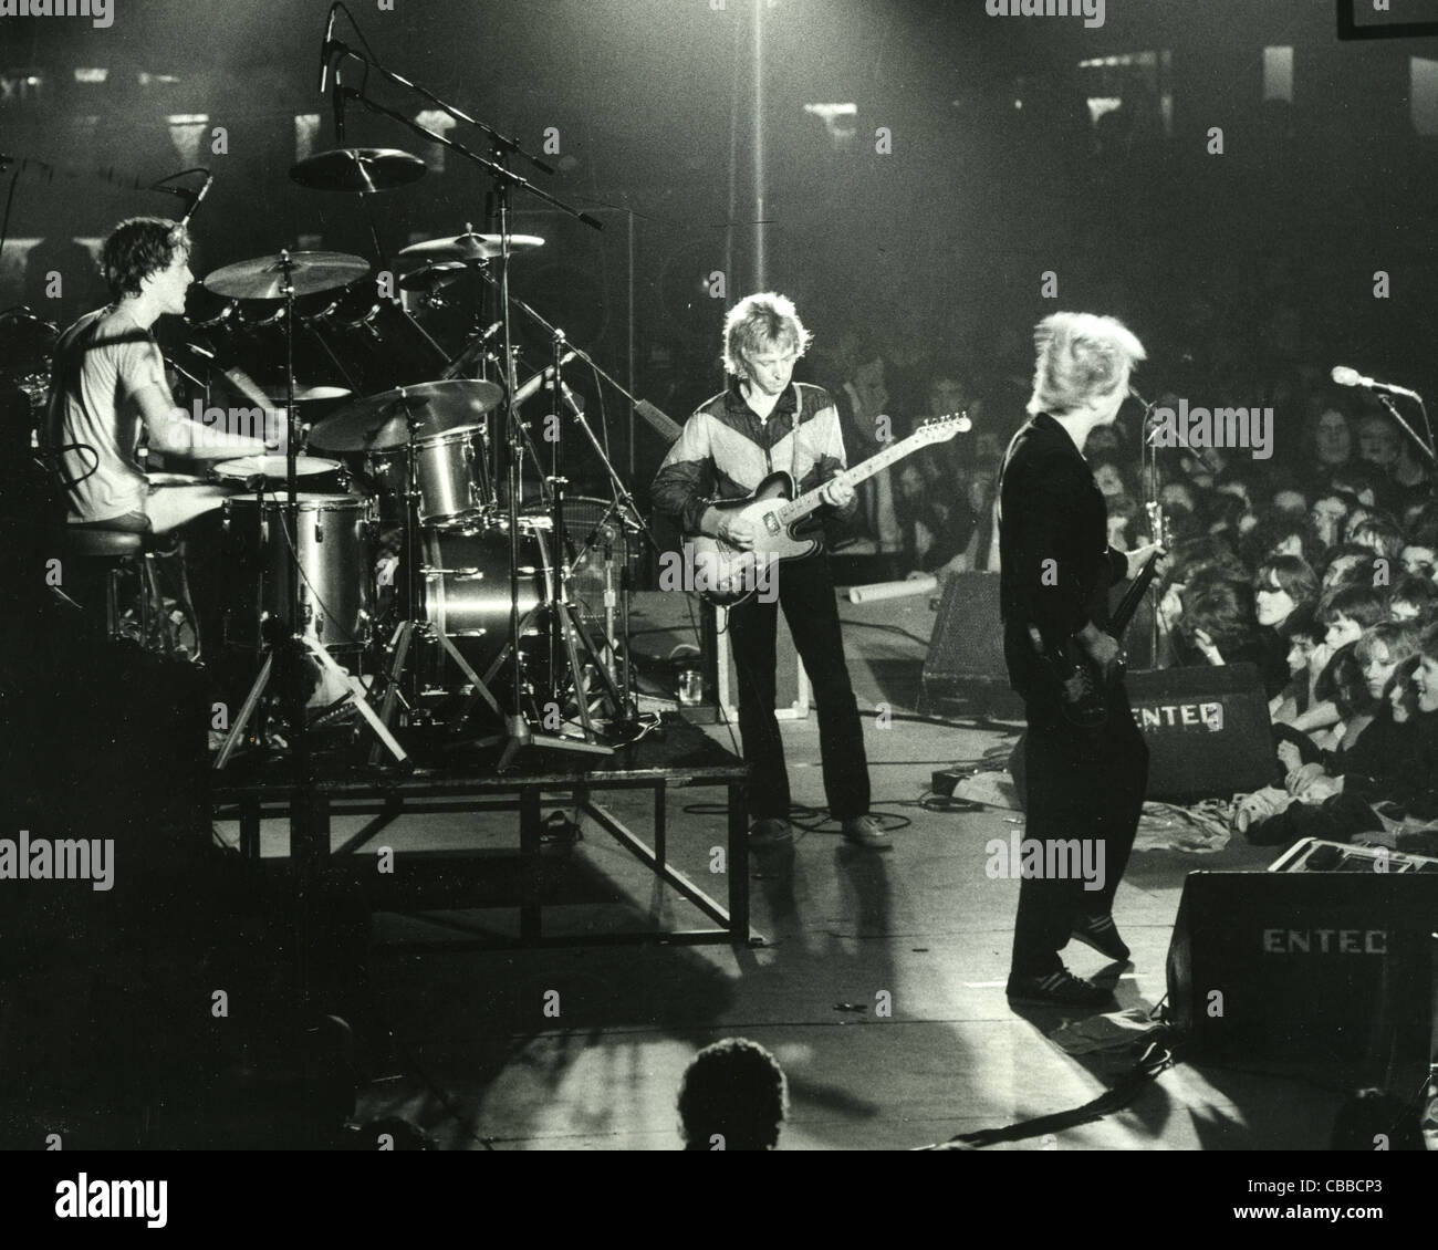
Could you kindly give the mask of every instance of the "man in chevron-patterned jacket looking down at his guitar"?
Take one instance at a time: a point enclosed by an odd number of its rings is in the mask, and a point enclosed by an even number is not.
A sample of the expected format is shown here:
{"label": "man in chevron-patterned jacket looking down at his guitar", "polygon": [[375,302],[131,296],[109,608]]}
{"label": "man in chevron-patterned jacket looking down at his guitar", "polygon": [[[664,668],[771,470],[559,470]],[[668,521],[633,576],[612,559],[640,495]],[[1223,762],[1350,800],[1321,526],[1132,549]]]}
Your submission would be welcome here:
{"label": "man in chevron-patterned jacket looking down at his guitar", "polygon": [[[794,304],[772,292],[739,301],[725,318],[729,386],[686,421],[651,488],[654,508],[683,534],[706,534],[742,551],[752,549],[751,524],[725,516],[710,503],[743,499],[779,469],[792,475],[801,493],[827,483],[827,506],[817,518],[853,515],[854,488],[830,480],[846,467],[838,410],[823,388],[794,381],[794,364],[811,338]],[[817,522],[807,537],[823,538]],[[869,761],[844,663],[828,557],[820,549],[802,560],[787,560],[772,570],[772,577],[814,686],[830,816],[840,821],[848,841],[887,850],[889,834],[869,814]],[[774,716],[778,606],[751,597],[729,610],[728,627],[739,676],[743,759],[752,770],[748,800],[755,823],[749,833],[755,846],[778,846],[792,836],[784,742]]]}

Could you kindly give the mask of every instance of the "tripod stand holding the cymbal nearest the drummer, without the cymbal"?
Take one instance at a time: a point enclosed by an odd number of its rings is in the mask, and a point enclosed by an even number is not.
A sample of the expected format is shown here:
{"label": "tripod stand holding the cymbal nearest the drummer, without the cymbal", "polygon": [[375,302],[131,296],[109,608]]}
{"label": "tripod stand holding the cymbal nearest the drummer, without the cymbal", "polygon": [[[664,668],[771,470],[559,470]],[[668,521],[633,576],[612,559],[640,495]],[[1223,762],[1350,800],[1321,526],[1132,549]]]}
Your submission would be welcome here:
{"label": "tripod stand holding the cymbal nearest the drummer, without the cymbal", "polygon": [[[285,394],[286,394],[286,409],[285,419],[289,423],[288,439],[285,442],[285,459],[286,459],[286,493],[288,499],[285,503],[285,518],[280,522],[286,526],[286,541],[289,547],[289,614],[293,620],[279,623],[282,629],[288,631],[288,637],[282,639],[280,643],[272,640],[265,649],[265,663],[260,665],[260,672],[255,678],[255,683],[250,686],[249,693],[244,696],[244,702],[240,705],[240,715],[234,718],[234,724],[230,726],[230,732],[224,738],[224,744],[220,748],[220,754],[214,761],[216,771],[224,768],[230,762],[230,757],[234,754],[234,748],[239,745],[240,738],[244,734],[244,728],[249,725],[250,716],[255,715],[255,709],[259,706],[259,701],[269,686],[270,676],[275,672],[275,653],[278,646],[288,644],[292,647],[292,654],[298,660],[303,652],[309,652],[322,667],[325,667],[331,676],[338,678],[344,685],[347,685],[354,695],[355,706],[360,709],[360,715],[364,716],[365,722],[374,731],[375,736],[384,747],[394,755],[395,764],[407,764],[408,754],[403,747],[394,739],[394,735],[385,728],[384,722],[374,713],[370,706],[364,686],[360,679],[352,673],[345,673],[344,669],[335,663],[334,657],[325,650],[324,643],[319,639],[312,639],[303,631],[303,623],[301,620],[301,606],[299,606],[299,585],[302,580],[302,570],[299,567],[299,549],[296,544],[299,542],[299,476],[298,476],[298,456],[299,456],[299,436],[301,436],[301,421],[299,410],[295,404],[295,283],[290,273],[289,253],[280,252],[280,263],[285,266]],[[260,483],[256,499],[256,524],[265,524],[265,488]],[[262,610],[257,607],[257,610]],[[263,626],[262,626],[263,629]],[[289,711],[289,747],[295,758],[296,781],[301,785],[309,784],[309,724],[305,706],[305,696],[301,693],[299,672],[298,666],[290,673],[289,689],[285,690],[288,695],[290,711]]]}

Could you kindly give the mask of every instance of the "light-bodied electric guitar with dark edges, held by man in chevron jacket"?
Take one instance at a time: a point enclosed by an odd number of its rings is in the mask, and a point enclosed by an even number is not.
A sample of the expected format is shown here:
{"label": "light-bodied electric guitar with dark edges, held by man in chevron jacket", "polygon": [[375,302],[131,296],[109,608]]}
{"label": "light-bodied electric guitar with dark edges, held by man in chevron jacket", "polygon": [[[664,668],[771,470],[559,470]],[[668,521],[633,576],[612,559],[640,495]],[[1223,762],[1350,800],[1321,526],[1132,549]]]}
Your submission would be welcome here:
{"label": "light-bodied electric guitar with dark edges, held by man in chevron jacket", "polygon": [[[884,447],[853,469],[835,473],[830,480],[857,485],[920,447],[946,443],[955,434],[968,433],[969,429],[972,423],[968,413],[933,417],[907,439]],[[716,502],[713,506],[729,521],[752,522],[754,548],[742,551],[722,538],[710,538],[706,534],[684,535],[684,547],[690,548],[687,555],[695,571],[693,590],[718,607],[732,607],[743,603],[774,575],[775,561],[812,555],[818,549],[818,539],[795,538],[794,526],[824,502],[823,491],[823,486],[815,486],[795,499],[794,479],[781,469],[765,478],[746,498]]]}

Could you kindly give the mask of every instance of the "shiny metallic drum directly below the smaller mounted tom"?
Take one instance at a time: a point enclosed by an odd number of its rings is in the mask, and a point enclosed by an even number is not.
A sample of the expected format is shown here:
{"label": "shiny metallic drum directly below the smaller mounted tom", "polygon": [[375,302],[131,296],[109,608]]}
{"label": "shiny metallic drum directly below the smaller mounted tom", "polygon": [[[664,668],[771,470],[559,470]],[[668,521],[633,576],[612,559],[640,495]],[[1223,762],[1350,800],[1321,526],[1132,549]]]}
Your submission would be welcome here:
{"label": "shiny metallic drum directly below the smaller mounted tom", "polygon": [[[483,678],[509,642],[509,531],[424,531],[418,619],[449,634],[460,654]],[[519,633],[545,631],[539,611],[549,597],[548,535],[528,519],[519,522]]]}

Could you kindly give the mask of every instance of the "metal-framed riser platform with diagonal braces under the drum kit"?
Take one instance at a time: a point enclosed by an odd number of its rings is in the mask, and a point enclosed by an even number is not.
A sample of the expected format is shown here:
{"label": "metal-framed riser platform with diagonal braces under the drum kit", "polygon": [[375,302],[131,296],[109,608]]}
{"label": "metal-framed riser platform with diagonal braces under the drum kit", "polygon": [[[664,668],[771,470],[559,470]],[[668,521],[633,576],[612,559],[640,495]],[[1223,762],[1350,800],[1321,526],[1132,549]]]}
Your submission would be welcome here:
{"label": "metal-framed riser platform with diagonal braces under the drum kit", "polygon": [[[457,938],[446,941],[403,941],[381,944],[375,949],[404,952],[506,949],[523,946],[575,946],[615,944],[718,944],[764,945],[764,938],[749,928],[749,846],[748,807],[743,787],[748,765],[713,742],[702,729],[679,716],[666,716],[663,736],[651,735],[621,747],[611,757],[555,757],[523,752],[519,767],[493,771],[485,752],[482,765],[466,770],[416,768],[408,774],[364,774],[354,770],[316,777],[299,788],[293,777],[243,772],[216,772],[210,810],[214,820],[239,820],[240,854],[250,869],[260,864],[260,823],[289,817],[289,869],[301,889],[318,873],[332,869],[341,856],[365,846],[400,816],[424,813],[519,813],[519,936]],[[318,761],[316,761],[318,762]],[[485,771],[485,770],[489,771]],[[722,785],[728,811],[728,906],[702,890],[667,859],[670,788]],[[653,844],[630,830],[613,811],[595,801],[604,791],[653,791]],[[587,935],[546,935],[544,932],[545,854],[542,844],[542,806],[545,795],[568,795],[568,804],[594,821],[640,860],[654,876],[693,903],[718,928],[680,931],[624,931]],[[308,818],[295,818],[296,801],[308,804]],[[331,849],[332,816],[368,816],[365,826]],[[303,830],[309,829],[306,834]],[[463,852],[418,852],[427,860],[459,862]],[[475,903],[472,906],[513,906],[513,903]],[[378,908],[390,911],[388,908]],[[464,909],[464,903],[446,911]],[[397,912],[414,909],[394,909]]]}

